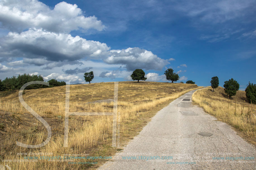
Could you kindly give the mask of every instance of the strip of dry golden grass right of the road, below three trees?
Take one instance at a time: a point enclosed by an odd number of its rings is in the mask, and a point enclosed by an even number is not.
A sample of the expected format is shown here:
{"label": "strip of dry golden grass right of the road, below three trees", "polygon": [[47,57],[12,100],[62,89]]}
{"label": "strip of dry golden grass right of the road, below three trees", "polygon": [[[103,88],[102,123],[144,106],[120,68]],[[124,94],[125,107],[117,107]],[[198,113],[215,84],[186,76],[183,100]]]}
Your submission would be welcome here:
{"label": "strip of dry golden grass right of the road, below three trees", "polygon": [[212,92],[212,88],[207,87],[197,90],[192,99],[206,112],[235,127],[238,134],[256,145],[256,105],[247,101],[245,91],[238,90],[236,96],[228,99],[224,88],[218,87]]}

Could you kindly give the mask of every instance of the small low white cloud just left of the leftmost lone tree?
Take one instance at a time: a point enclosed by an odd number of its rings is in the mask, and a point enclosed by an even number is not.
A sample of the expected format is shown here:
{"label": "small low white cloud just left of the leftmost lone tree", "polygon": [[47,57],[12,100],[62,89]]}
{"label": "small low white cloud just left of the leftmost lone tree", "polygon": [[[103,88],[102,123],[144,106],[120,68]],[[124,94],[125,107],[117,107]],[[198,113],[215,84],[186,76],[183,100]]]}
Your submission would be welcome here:
{"label": "small low white cloud just left of the leftmost lone tree", "polygon": [[65,75],[65,74],[59,74],[59,73],[51,73],[50,75],[47,75],[46,77],[44,77],[44,80],[46,81],[51,79],[56,79],[58,81],[64,81],[64,82],[73,82],[73,83],[78,83],[82,81],[82,79],[79,78],[78,76]]}

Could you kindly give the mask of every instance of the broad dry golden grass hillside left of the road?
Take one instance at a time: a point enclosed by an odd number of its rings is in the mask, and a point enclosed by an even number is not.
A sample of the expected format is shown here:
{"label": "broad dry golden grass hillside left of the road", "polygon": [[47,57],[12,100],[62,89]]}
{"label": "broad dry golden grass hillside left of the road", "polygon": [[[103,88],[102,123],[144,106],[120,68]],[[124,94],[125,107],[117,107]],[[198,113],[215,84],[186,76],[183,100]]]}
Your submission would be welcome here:
{"label": "broad dry golden grass hillside left of the road", "polygon": [[[11,169],[33,170],[96,168],[106,160],[71,159],[72,162],[97,164],[69,164],[55,158],[50,161],[35,158],[29,160],[24,156],[111,156],[133,139],[157,111],[180,95],[198,88],[197,85],[180,83],[119,82],[119,148],[111,147],[113,116],[70,116],[68,147],[63,147],[65,86],[25,91],[25,102],[48,122],[52,137],[48,144],[40,148],[17,146],[16,141],[31,145],[42,143],[47,137],[47,130],[20,104],[18,92],[1,97],[0,164],[8,164]],[[113,112],[113,102],[86,104],[95,100],[113,99],[113,96],[114,82],[71,85],[69,111]],[[21,155],[23,153],[27,155]],[[39,155],[33,155],[36,153]]]}

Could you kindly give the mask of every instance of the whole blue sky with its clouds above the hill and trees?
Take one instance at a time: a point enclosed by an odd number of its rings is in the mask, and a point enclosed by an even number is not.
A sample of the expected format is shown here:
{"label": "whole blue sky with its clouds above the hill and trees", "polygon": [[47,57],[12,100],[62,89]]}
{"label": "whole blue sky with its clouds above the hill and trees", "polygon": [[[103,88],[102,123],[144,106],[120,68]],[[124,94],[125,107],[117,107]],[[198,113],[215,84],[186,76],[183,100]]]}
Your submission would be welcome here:
{"label": "whole blue sky with its clouds above the hill and trees", "polygon": [[[0,79],[34,73],[85,83],[181,80],[255,83],[255,1],[2,1]],[[178,82],[180,82],[178,81]]]}

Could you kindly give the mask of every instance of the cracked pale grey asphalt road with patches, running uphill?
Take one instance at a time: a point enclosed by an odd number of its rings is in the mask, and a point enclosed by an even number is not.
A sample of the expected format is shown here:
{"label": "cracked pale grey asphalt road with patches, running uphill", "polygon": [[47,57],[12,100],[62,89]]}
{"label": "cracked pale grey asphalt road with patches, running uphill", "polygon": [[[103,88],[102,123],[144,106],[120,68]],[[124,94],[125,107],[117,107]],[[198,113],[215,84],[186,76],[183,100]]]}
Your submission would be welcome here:
{"label": "cracked pale grey asphalt road with patches, running uphill", "polygon": [[226,123],[191,105],[194,91],[157,112],[99,169],[256,169],[256,148]]}

